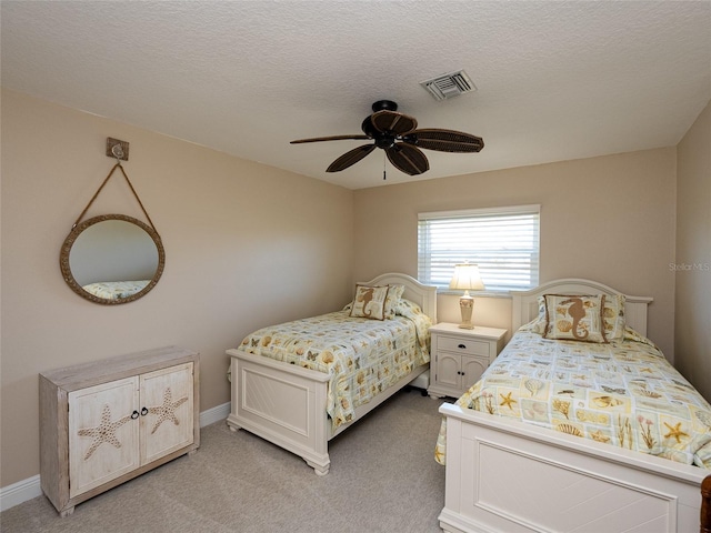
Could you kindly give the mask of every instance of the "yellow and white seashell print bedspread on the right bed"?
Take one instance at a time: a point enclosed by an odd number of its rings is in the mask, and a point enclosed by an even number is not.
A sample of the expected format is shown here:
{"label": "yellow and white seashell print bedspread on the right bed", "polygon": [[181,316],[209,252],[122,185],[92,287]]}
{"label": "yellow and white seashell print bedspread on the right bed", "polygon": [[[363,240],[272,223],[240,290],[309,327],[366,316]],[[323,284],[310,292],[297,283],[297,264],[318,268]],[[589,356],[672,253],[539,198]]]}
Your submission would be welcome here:
{"label": "yellow and white seashell print bedspread on the right bed", "polygon": [[[554,341],[519,330],[457,405],[711,470],[711,406],[651,341]],[[435,460],[445,464],[447,420]]]}

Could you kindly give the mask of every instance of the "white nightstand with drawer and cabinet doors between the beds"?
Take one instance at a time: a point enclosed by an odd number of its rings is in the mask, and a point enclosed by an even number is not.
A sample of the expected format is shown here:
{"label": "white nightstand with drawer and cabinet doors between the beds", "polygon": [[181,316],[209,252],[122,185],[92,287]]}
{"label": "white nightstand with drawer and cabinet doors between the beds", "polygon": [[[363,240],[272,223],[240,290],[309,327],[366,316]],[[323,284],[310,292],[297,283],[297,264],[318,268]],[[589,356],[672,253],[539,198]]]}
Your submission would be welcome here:
{"label": "white nightstand with drawer and cabinet doors between the beds", "polygon": [[473,385],[503,349],[507,330],[475,326],[464,330],[442,322],[430,328],[430,396],[459,398]]}

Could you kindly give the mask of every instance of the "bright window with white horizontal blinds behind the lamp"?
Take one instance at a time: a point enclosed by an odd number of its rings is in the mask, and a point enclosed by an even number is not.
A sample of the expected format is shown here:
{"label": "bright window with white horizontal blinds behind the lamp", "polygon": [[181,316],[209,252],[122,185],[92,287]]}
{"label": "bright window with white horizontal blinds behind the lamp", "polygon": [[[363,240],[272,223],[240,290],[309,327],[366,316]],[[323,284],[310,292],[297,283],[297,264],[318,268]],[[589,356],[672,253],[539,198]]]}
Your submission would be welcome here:
{"label": "bright window with white horizontal blinds behind the lamp", "polygon": [[477,263],[487,291],[538,285],[540,205],[418,215],[418,276],[449,288],[457,263]]}

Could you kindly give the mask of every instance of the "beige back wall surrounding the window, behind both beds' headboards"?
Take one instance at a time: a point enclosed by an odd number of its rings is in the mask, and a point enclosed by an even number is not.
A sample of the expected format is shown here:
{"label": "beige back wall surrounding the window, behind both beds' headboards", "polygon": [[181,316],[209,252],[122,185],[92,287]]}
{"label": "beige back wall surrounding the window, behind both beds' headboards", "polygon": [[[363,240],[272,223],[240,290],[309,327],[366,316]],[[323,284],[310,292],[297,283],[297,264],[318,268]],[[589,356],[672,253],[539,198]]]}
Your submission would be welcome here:
{"label": "beige back wall surrounding the window, behind both beds' headboards", "polygon": [[[673,361],[675,165],[665,148],[356,191],[354,273],[417,275],[419,212],[538,203],[540,281],[589,278],[653,296],[649,335]],[[457,296],[438,304],[440,321],[459,320]],[[475,299],[474,323],[510,329],[510,299]]]}

